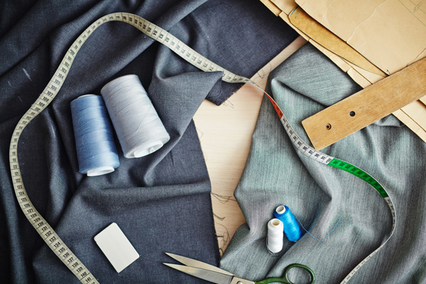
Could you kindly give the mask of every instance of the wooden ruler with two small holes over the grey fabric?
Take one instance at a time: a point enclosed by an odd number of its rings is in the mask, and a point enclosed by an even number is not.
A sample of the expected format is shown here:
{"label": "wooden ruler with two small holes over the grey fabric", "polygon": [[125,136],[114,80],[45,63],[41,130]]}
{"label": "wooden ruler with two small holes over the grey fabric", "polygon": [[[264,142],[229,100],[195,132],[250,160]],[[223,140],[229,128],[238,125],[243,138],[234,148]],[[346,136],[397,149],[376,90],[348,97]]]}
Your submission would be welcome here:
{"label": "wooden ruler with two small holes over the grey fabric", "polygon": [[426,58],[302,121],[320,150],[426,95]]}

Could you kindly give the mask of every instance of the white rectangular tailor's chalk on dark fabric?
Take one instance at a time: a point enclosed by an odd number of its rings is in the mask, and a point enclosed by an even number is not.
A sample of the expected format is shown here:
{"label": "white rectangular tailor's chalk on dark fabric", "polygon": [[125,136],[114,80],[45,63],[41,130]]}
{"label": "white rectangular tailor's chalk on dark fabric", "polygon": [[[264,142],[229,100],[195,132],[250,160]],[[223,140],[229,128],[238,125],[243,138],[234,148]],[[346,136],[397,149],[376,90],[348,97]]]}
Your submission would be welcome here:
{"label": "white rectangular tailor's chalk on dark fabric", "polygon": [[118,273],[139,258],[139,253],[116,223],[107,226],[93,239]]}

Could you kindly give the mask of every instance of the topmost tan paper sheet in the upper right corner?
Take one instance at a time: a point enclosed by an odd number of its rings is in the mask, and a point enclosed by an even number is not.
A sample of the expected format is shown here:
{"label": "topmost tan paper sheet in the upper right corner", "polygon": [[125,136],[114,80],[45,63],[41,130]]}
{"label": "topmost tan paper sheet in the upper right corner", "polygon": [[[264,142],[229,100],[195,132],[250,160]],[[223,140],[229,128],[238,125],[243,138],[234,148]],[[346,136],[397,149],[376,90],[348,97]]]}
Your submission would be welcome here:
{"label": "topmost tan paper sheet in the upper right corner", "polygon": [[425,0],[296,0],[386,74],[426,56]]}

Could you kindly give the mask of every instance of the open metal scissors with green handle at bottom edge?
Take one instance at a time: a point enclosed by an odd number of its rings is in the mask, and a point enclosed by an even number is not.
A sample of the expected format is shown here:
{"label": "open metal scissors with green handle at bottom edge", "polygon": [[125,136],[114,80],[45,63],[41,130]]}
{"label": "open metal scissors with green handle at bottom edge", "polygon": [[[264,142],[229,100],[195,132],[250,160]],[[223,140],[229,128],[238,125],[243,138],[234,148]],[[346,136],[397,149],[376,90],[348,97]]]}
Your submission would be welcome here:
{"label": "open metal scissors with green handle at bottom edge", "polygon": [[229,273],[228,271],[224,271],[221,268],[217,268],[216,266],[212,266],[210,264],[196,261],[192,258],[186,258],[185,256],[178,256],[173,253],[166,253],[171,258],[174,258],[176,261],[179,261],[180,263],[183,263],[184,265],[180,264],[173,264],[173,263],[163,263],[166,266],[170,266],[171,268],[175,268],[178,271],[182,271],[184,273],[190,274],[192,276],[202,278],[204,280],[210,281],[212,283],[217,284],[267,284],[267,283],[285,283],[285,284],[293,284],[288,279],[288,271],[290,271],[291,268],[294,267],[300,267],[305,269],[310,276],[311,276],[311,282],[310,284],[313,284],[315,282],[315,275],[314,271],[312,271],[311,268],[304,266],[299,263],[293,263],[287,266],[284,270],[283,277],[271,277],[266,278],[261,281],[251,281],[246,280],[243,278],[239,278],[236,275]]}

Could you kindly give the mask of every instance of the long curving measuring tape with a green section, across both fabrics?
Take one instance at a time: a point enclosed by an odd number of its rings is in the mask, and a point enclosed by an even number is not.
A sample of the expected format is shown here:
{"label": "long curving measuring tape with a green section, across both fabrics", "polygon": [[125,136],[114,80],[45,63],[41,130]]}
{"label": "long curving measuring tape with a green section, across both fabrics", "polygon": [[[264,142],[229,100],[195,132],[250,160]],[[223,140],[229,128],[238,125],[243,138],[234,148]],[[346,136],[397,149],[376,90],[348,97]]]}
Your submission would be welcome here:
{"label": "long curving measuring tape with a green section, across both fabrics", "polygon": [[[48,224],[48,222],[46,222],[46,220],[40,215],[40,213],[38,213],[38,211],[35,209],[35,207],[28,198],[27,192],[23,185],[21,170],[19,169],[18,141],[21,137],[23,129],[26,128],[28,123],[33,120],[35,116],[38,116],[41,111],[48,107],[48,104],[50,104],[50,102],[52,102],[52,100],[56,97],[60,90],[60,87],[62,87],[62,84],[65,81],[65,78],[67,77],[68,72],[70,71],[70,67],[75,56],[77,55],[77,52],[80,50],[89,35],[91,35],[93,31],[96,30],[103,23],[107,23],[109,21],[122,21],[124,23],[131,24],[132,26],[138,28],[139,31],[142,31],[154,40],[163,43],[163,45],[170,48],[170,50],[178,54],[187,62],[190,62],[195,67],[200,68],[200,70],[203,70],[205,72],[222,71],[222,80],[225,82],[249,83],[258,87],[258,85],[250,79],[235,75],[234,73],[225,70],[214,62],[208,60],[207,58],[204,58],[202,55],[200,55],[200,53],[197,53],[195,50],[192,50],[187,45],[185,45],[185,43],[182,43],[182,41],[180,41],[178,38],[175,38],[175,36],[171,35],[159,26],[155,26],[153,23],[146,21],[146,19],[141,18],[137,15],[133,15],[131,13],[111,13],[107,16],[99,18],[97,21],[92,23],[92,25],[86,28],[86,30],[77,38],[77,40],[72,43],[72,46],[67,50],[67,53],[62,59],[62,62],[60,62],[58,69],[55,71],[55,74],[53,75],[52,79],[50,79],[50,82],[45,87],[43,92],[40,94],[40,97],[35,100],[35,103],[32,104],[31,108],[28,109],[28,111],[26,111],[26,113],[18,121],[18,124],[16,125],[16,128],[13,131],[13,135],[11,138],[9,160],[11,166],[13,188],[15,191],[16,198],[18,200],[18,204],[21,207],[23,213],[27,217],[28,221],[31,222],[33,227],[37,230],[38,234],[40,234],[40,236],[43,238],[45,243],[48,244],[50,249],[52,249],[56,256],[58,256],[58,258],[60,258],[62,263],[65,263],[65,266],[67,266],[67,268],[69,268],[70,271],[74,273],[74,275],[80,280],[80,282],[84,284],[95,284],[98,283],[98,281],[96,278],[94,278],[94,275],[92,275],[92,273],[90,273],[89,270],[82,264],[82,262],[77,258],[77,256],[75,256],[75,254],[72,253],[72,251],[64,244],[58,234],[53,230],[53,228]],[[258,88],[261,89],[261,87]],[[288,133],[288,136],[290,137],[290,140],[292,141],[293,146],[297,149],[297,151],[301,151],[303,154],[307,155],[307,157],[312,158],[313,160],[316,160],[319,163],[330,165],[334,168],[339,168],[348,173],[356,175],[357,177],[366,181],[375,190],[377,190],[377,192],[383,197],[383,199],[386,201],[386,204],[388,204],[389,209],[391,210],[391,235],[388,237],[388,239],[386,239],[383,244],[381,244],[381,246],[378,247],[378,249],[376,249],[375,251],[373,251],[373,253],[364,258],[364,260],[361,261],[361,263],[359,263],[351,271],[351,273],[346,276],[346,278],[344,278],[342,283],[347,283],[349,279],[356,273],[356,271],[359,271],[361,266],[363,266],[364,263],[368,261],[368,259],[373,257],[386,244],[386,242],[391,239],[393,231],[395,231],[396,224],[395,208],[393,206],[391,197],[388,196],[388,193],[381,186],[381,184],[371,175],[368,175],[368,173],[366,173],[364,170],[361,170],[360,168],[357,168],[356,166],[351,165],[350,163],[344,162],[343,160],[339,160],[330,155],[326,155],[324,153],[316,151],[314,148],[302,141],[300,136],[297,135],[293,127],[285,118],[283,111],[281,111],[280,107],[278,107],[278,104],[276,104],[273,98],[265,91],[263,91],[263,89],[261,90],[271,101],[275,111],[277,112],[280,118],[281,124],[283,124],[285,131]]]}

